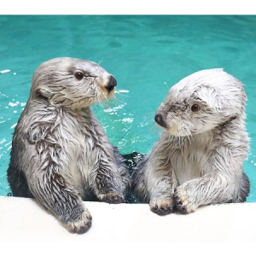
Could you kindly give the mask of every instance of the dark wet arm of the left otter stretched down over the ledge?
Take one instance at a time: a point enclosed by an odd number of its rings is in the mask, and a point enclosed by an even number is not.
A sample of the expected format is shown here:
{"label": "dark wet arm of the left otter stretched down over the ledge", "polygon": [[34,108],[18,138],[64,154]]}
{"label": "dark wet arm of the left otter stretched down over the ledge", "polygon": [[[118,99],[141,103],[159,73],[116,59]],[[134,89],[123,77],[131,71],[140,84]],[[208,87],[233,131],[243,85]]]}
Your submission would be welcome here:
{"label": "dark wet arm of the left otter stretched down over the ledge", "polygon": [[[90,212],[84,207],[72,184],[61,176],[61,166],[58,164],[58,154],[61,152],[56,147],[56,144],[45,140],[26,145],[24,156],[29,160],[25,171],[27,184],[32,195],[53,212],[67,230],[84,233],[91,225]],[[36,151],[38,155],[28,155]]]}

